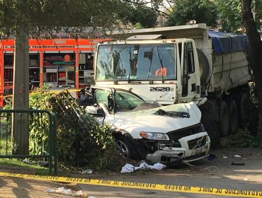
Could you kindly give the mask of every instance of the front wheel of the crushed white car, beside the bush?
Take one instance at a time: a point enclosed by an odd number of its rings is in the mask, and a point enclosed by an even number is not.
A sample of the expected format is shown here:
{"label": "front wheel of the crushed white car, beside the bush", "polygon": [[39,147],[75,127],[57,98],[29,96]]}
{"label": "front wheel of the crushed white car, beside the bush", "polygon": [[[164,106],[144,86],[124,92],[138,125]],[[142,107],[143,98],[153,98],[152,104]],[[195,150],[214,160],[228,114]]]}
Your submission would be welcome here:
{"label": "front wheel of the crushed white car, beside the bush", "polygon": [[118,146],[118,153],[120,153],[120,156],[129,159],[137,158],[137,156],[134,155],[134,148],[125,137],[118,137],[116,144]]}

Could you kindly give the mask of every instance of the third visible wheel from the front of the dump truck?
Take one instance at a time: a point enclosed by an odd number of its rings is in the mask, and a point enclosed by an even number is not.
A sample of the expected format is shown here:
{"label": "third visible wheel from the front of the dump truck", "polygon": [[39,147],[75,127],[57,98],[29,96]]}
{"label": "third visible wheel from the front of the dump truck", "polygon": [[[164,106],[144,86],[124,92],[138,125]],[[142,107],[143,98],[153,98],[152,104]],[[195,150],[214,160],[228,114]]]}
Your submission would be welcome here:
{"label": "third visible wheel from the front of the dump truck", "polygon": [[230,100],[227,103],[228,111],[229,111],[229,134],[235,132],[237,130],[238,122],[238,111],[237,111],[237,103],[235,100]]}

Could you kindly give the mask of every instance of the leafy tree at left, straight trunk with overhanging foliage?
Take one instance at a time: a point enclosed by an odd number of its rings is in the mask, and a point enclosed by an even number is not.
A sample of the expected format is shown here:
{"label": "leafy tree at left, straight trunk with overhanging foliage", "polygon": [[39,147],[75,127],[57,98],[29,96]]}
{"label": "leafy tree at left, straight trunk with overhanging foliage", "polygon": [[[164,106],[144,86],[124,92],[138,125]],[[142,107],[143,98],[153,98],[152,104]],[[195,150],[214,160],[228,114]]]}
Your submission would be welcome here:
{"label": "leafy tree at left, straight trunk with overhanging foliage", "polygon": [[[118,0],[2,0],[0,1],[0,30],[2,35],[16,37],[14,56],[14,88],[13,109],[27,110],[28,97],[28,37],[40,37],[45,33],[53,37],[54,33],[63,30],[75,37],[82,33],[83,28],[101,27],[102,30],[111,28],[118,21],[123,4]],[[17,154],[28,153],[27,115],[12,117],[12,135],[18,143],[13,151]],[[20,122],[19,122],[20,123]]]}

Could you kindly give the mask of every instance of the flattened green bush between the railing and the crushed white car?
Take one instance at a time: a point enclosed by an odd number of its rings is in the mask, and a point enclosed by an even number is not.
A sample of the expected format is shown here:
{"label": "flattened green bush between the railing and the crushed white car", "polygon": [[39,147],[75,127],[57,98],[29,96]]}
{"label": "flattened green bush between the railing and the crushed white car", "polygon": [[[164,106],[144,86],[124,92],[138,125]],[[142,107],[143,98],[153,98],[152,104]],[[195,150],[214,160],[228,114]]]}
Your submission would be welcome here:
{"label": "flattened green bush between the railing and the crushed white car", "polygon": [[[68,105],[68,95],[63,97],[50,93],[48,88],[44,92],[37,90],[30,95],[30,108],[49,110],[57,115],[59,163],[66,167],[88,165],[93,169],[114,168],[118,162],[115,157],[119,156],[109,127],[98,125],[73,100]],[[42,126],[48,126],[46,114],[30,117],[30,148],[38,153],[48,146],[45,132],[47,127],[43,129]]]}

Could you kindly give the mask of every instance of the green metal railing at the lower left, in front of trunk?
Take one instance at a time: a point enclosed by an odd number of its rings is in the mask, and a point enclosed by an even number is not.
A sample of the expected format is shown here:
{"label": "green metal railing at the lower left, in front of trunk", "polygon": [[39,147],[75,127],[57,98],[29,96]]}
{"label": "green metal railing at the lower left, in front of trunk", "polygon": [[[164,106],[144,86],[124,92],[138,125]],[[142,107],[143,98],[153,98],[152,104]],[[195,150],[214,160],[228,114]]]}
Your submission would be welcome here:
{"label": "green metal railing at the lower left, in front of trunk", "polygon": [[[12,117],[25,117],[27,126],[16,126],[18,136],[28,132],[28,151],[16,154],[12,136]],[[22,121],[21,121],[22,123]],[[17,129],[21,127],[21,129]],[[25,127],[28,127],[24,130]],[[0,110],[0,158],[48,159],[49,172],[57,174],[57,117],[47,110]]]}

